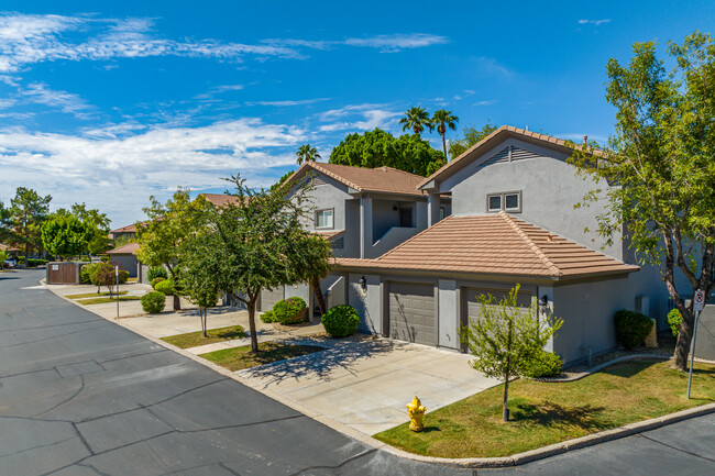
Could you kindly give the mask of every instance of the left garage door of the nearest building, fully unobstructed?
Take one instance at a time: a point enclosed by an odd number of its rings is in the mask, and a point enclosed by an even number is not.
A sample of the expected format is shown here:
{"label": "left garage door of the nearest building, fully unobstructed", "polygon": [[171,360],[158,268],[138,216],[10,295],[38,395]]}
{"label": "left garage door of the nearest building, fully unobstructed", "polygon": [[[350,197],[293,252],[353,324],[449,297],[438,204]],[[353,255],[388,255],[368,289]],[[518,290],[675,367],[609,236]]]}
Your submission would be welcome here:
{"label": "left garage door of the nearest building, fully unobstructed", "polygon": [[432,285],[391,283],[389,336],[418,344],[437,345]]}

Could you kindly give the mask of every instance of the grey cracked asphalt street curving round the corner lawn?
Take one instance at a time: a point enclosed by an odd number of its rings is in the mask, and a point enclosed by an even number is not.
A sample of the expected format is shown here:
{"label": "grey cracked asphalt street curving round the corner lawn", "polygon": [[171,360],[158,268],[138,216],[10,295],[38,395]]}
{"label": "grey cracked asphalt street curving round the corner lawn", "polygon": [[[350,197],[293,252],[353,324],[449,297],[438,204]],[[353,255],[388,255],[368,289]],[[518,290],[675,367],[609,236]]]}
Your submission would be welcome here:
{"label": "grey cracked asphalt street curving round the corner lawn", "polygon": [[712,475],[715,417],[518,468],[374,450],[37,286],[0,274],[0,475]]}

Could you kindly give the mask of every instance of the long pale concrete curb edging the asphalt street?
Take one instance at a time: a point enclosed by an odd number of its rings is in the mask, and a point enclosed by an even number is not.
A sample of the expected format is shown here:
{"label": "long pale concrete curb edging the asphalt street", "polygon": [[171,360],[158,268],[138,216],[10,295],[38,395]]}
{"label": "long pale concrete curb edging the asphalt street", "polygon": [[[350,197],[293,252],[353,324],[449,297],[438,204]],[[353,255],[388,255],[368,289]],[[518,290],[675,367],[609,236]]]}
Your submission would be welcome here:
{"label": "long pale concrete curb edging the asphalt street", "polygon": [[[41,284],[43,284],[43,283],[41,281]],[[588,435],[576,438],[576,439],[573,439],[573,440],[566,440],[566,441],[560,442],[560,443],[554,443],[554,444],[549,445],[549,446],[543,446],[543,447],[527,451],[527,452],[524,452],[524,453],[518,453],[518,454],[515,454],[515,455],[512,455],[512,456],[503,456],[503,457],[468,457],[468,458],[449,458],[449,457],[437,457],[437,456],[422,456],[422,455],[406,452],[404,450],[399,450],[399,449],[397,449],[395,446],[391,446],[387,443],[384,443],[384,442],[382,442],[380,440],[376,440],[376,439],[374,439],[374,438],[372,438],[372,436],[370,436],[370,435],[367,435],[367,434],[365,434],[363,432],[360,432],[360,431],[358,431],[358,430],[355,430],[355,429],[353,429],[351,427],[348,427],[344,423],[340,423],[340,422],[327,417],[326,414],[320,413],[319,411],[317,411],[317,410],[315,410],[312,408],[305,407],[305,406],[300,405],[299,402],[297,402],[295,400],[287,399],[287,398],[283,397],[282,395],[278,395],[278,394],[276,394],[276,392],[274,392],[274,391],[272,391],[270,389],[261,388],[263,386],[257,384],[253,379],[245,378],[245,377],[243,377],[241,375],[238,375],[234,372],[228,370],[228,369],[215,364],[213,362],[207,361],[206,358],[202,358],[202,357],[199,357],[198,355],[191,354],[190,352],[188,352],[188,351],[186,351],[184,348],[179,348],[179,347],[177,347],[175,345],[169,344],[168,342],[162,341],[161,339],[157,339],[157,337],[154,337],[152,335],[145,334],[144,332],[142,332],[142,331],[135,329],[135,328],[132,328],[129,324],[123,323],[121,319],[117,320],[117,319],[105,318],[103,316],[101,316],[101,314],[99,314],[97,312],[94,312],[91,309],[87,309],[85,307],[81,307],[80,305],[73,301],[72,299],[67,299],[64,296],[61,296],[61,295],[54,292],[51,288],[46,288],[46,289],[50,290],[53,295],[55,295],[55,296],[57,296],[59,298],[63,298],[66,301],[69,301],[72,303],[74,303],[75,306],[79,307],[80,309],[85,309],[85,310],[87,310],[89,312],[92,312],[94,314],[99,316],[100,318],[105,319],[106,321],[109,321],[109,322],[112,322],[112,323],[114,323],[117,325],[120,325],[120,326],[127,329],[128,331],[131,331],[131,332],[133,332],[133,333],[135,333],[138,335],[141,335],[142,337],[147,339],[147,340],[150,340],[150,341],[152,341],[152,342],[154,342],[154,343],[156,343],[158,345],[162,345],[163,347],[166,347],[167,350],[174,351],[177,354],[182,354],[185,357],[188,357],[194,362],[197,362],[197,363],[199,363],[199,364],[201,364],[201,365],[204,365],[206,367],[211,368],[212,370],[217,372],[218,374],[221,374],[221,375],[223,375],[226,377],[229,377],[229,378],[231,378],[231,379],[233,379],[233,380],[235,380],[235,381],[238,381],[240,384],[243,384],[246,387],[249,387],[249,388],[251,388],[251,389],[253,389],[255,391],[258,391],[258,392],[261,392],[261,394],[263,394],[263,395],[278,401],[279,403],[285,405],[286,407],[289,407],[289,408],[305,414],[306,417],[311,418],[311,419],[324,424],[326,427],[329,427],[329,428],[331,428],[333,430],[337,430],[337,431],[352,438],[353,440],[356,440],[356,441],[359,441],[359,442],[361,442],[361,443],[363,443],[365,445],[372,446],[375,450],[382,450],[382,451],[384,451],[386,453],[391,453],[391,454],[393,454],[395,456],[403,457],[403,458],[406,458],[406,460],[413,460],[413,461],[417,461],[417,462],[421,462],[421,463],[441,464],[441,465],[446,465],[446,466],[460,467],[460,468],[499,468],[499,467],[519,466],[519,465],[530,463],[530,462],[534,462],[534,461],[543,460],[543,458],[547,458],[547,457],[550,457],[550,456],[556,456],[556,455],[559,455],[559,454],[563,454],[563,453],[566,453],[569,451],[581,450],[581,449],[584,449],[584,447],[587,447],[587,446],[593,446],[593,445],[596,445],[596,444],[600,444],[600,443],[605,443],[605,442],[608,442],[608,441],[618,440],[618,439],[630,436],[630,435],[641,433],[641,432],[645,432],[645,431],[654,430],[654,429],[658,429],[658,428],[661,428],[661,427],[664,427],[664,425],[668,425],[668,424],[676,423],[679,421],[688,420],[688,419],[691,419],[691,418],[696,418],[696,417],[702,417],[702,416],[705,416],[705,414],[715,413],[715,403],[707,403],[707,405],[691,408],[691,409],[688,409],[688,410],[678,411],[675,413],[666,414],[663,417],[658,417],[658,418],[653,418],[653,419],[650,419],[650,420],[637,421],[637,422],[629,423],[629,424],[626,424],[624,427],[615,428],[615,429],[612,429],[612,430],[606,430],[606,431],[602,431],[602,432],[598,432],[598,433],[588,434]],[[647,354],[644,354],[644,355],[647,355]],[[631,357],[631,358],[632,357],[642,357],[642,355],[626,356],[626,357]],[[660,357],[662,357],[662,356],[660,356]],[[627,359],[625,357],[620,357],[620,358]],[[618,361],[618,359],[616,359],[616,361]],[[616,362],[614,362],[614,363],[616,363]],[[610,363],[606,363],[606,364],[610,364]],[[606,366],[607,365],[603,365],[601,368],[606,367]],[[592,369],[592,372],[597,372],[597,370],[595,370],[596,368],[598,368],[598,366],[594,367],[594,369]],[[238,372],[241,372],[241,370],[238,370]],[[585,377],[585,376],[583,376],[583,377]],[[579,377],[579,378],[583,378],[583,377]],[[405,421],[407,421],[407,418],[405,418]]]}

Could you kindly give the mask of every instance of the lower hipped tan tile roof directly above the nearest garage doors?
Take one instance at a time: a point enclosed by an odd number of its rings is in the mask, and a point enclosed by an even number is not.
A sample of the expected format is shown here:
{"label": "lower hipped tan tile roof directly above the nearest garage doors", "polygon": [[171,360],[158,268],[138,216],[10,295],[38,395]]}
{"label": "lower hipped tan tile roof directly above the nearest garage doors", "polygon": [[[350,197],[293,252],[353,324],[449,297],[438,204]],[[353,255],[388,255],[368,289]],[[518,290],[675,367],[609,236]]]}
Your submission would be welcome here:
{"label": "lower hipped tan tile roof directly above the nearest garage doors", "polygon": [[374,259],[338,266],[427,272],[583,277],[638,270],[508,213],[448,217]]}

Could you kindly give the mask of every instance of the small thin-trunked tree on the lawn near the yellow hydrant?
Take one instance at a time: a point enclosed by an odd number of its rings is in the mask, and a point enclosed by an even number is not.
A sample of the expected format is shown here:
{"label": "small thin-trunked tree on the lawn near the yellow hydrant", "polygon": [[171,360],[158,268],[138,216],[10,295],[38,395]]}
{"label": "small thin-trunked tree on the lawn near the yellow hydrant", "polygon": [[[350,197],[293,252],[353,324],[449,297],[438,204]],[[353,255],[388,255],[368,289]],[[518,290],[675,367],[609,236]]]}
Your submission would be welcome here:
{"label": "small thin-trunked tree on the lawn near the yellow hydrant", "polygon": [[504,380],[504,421],[508,421],[509,378],[524,374],[561,328],[561,319],[539,319],[535,300],[528,309],[517,305],[519,285],[497,301],[492,295],[479,296],[480,316],[462,329],[462,341],[474,355],[472,366],[487,377]]}

